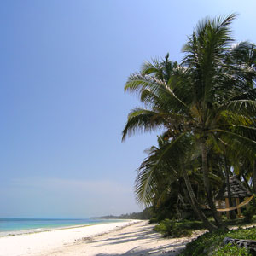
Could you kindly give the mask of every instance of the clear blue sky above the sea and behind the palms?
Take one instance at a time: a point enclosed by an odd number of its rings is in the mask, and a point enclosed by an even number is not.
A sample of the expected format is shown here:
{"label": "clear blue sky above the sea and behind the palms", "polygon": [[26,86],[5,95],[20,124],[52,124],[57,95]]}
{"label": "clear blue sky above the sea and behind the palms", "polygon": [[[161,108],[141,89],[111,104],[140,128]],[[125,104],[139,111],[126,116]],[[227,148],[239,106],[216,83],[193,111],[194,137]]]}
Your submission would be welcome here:
{"label": "clear blue sky above the sea and behind the palms", "polygon": [[124,93],[143,61],[180,61],[196,23],[239,14],[256,43],[254,0],[0,0],[0,218],[139,212],[137,168],[157,132],[121,143]]}

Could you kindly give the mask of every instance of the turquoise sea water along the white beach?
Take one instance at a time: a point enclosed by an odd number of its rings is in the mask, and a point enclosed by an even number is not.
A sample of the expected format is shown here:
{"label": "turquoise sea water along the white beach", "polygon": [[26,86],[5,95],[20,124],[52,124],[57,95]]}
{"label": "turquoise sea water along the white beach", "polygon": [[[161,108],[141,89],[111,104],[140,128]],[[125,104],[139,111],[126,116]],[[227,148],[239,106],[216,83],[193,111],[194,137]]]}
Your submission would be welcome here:
{"label": "turquoise sea water along the white beach", "polygon": [[0,236],[17,235],[72,226],[102,224],[118,220],[102,219],[51,219],[51,218],[0,218]]}

